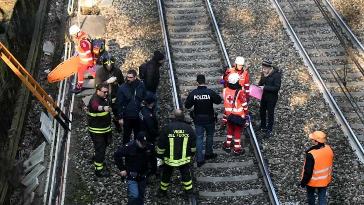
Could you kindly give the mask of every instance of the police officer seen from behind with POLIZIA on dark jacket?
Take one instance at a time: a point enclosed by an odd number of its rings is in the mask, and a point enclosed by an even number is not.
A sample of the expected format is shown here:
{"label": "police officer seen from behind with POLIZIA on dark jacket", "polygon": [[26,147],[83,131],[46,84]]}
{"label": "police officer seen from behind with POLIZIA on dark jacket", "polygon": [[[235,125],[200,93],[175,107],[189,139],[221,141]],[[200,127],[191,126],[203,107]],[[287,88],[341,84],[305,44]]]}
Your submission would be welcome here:
{"label": "police officer seen from behind with POLIZIA on dark jacket", "polygon": [[[205,76],[199,74],[196,78],[197,89],[193,90],[186,99],[185,108],[193,107],[193,122],[197,137],[197,166],[201,167],[205,160],[215,159],[217,154],[213,153],[213,137],[215,132],[214,107],[213,104],[220,104],[221,97],[205,85]],[[203,136],[206,130],[206,153],[205,160],[202,159]]]}

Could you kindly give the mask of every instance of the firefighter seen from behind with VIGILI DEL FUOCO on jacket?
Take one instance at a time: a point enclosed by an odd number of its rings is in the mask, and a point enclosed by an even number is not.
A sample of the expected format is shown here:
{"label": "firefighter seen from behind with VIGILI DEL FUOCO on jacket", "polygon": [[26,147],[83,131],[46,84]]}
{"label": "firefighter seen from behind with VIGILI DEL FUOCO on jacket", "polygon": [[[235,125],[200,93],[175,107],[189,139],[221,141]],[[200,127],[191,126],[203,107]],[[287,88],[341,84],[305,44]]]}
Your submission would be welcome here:
{"label": "firefighter seen from behind with VIGILI DEL FUOCO on jacket", "polygon": [[193,187],[189,163],[196,152],[196,136],[192,127],[183,122],[183,112],[175,109],[172,122],[165,125],[159,136],[157,157],[165,162],[158,196],[167,194],[174,167],[178,167],[189,202],[193,200]]}

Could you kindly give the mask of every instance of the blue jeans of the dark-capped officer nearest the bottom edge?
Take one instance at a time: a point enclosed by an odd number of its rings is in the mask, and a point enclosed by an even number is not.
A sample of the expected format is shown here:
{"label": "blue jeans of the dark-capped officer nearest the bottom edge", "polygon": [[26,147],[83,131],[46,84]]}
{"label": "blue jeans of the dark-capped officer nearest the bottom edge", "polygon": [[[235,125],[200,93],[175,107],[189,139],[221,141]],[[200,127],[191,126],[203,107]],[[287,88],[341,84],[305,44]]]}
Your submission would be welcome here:
{"label": "blue jeans of the dark-capped officer nearest the bottom edge", "polygon": [[141,181],[126,180],[129,188],[129,199],[128,205],[143,205],[144,195],[145,195],[145,185],[147,179],[142,179]]}

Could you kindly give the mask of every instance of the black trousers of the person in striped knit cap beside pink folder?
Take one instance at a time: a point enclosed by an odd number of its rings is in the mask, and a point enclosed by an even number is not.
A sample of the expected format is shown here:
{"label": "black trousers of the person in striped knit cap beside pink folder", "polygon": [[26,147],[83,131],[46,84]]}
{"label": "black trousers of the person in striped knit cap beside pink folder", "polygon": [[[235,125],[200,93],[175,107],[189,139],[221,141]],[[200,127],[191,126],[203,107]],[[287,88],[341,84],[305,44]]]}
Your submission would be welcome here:
{"label": "black trousers of the person in striped knit cap beside pink folder", "polygon": [[[267,128],[267,130],[273,130],[274,123],[274,108],[277,101],[260,101],[260,128]],[[266,112],[268,111],[268,126],[266,125]]]}

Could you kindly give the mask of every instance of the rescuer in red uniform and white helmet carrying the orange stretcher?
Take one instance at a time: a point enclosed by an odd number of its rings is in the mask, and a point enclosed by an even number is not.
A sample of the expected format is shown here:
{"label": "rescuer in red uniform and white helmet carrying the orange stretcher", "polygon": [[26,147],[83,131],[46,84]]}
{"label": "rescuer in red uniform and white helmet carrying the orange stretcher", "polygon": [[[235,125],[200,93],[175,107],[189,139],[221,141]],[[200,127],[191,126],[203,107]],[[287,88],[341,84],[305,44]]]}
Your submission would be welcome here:
{"label": "rescuer in red uniform and white helmet carrying the orange stretcher", "polygon": [[88,70],[92,76],[95,76],[96,72],[94,59],[92,57],[92,39],[76,25],[71,26],[69,31],[70,35],[73,36],[78,43],[78,51],[76,51],[74,55],[80,58],[77,71],[77,85],[75,89],[71,90],[71,93],[80,93],[82,92],[83,76],[86,70]]}

